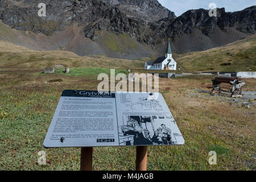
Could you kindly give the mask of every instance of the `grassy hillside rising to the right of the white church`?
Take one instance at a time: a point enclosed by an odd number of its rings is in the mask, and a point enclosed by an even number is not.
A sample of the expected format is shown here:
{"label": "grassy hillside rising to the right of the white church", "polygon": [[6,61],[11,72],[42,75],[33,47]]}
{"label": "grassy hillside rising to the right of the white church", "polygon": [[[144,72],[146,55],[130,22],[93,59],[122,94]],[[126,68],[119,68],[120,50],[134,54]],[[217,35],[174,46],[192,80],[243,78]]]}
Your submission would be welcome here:
{"label": "grassy hillside rising to the right of the white church", "polygon": [[256,71],[256,35],[222,47],[176,55],[187,71]]}

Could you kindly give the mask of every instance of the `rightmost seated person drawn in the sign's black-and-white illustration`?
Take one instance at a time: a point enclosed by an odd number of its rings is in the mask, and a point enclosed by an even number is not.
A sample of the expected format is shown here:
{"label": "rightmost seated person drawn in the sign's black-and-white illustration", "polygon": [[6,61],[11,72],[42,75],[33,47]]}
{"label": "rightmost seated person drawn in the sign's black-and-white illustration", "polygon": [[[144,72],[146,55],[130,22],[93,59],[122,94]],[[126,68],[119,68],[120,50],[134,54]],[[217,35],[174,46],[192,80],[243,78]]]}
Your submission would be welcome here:
{"label": "rightmost seated person drawn in the sign's black-and-white illustration", "polygon": [[172,144],[171,140],[172,131],[166,127],[166,125],[162,124],[156,131],[155,137],[158,141],[156,143],[159,144]]}

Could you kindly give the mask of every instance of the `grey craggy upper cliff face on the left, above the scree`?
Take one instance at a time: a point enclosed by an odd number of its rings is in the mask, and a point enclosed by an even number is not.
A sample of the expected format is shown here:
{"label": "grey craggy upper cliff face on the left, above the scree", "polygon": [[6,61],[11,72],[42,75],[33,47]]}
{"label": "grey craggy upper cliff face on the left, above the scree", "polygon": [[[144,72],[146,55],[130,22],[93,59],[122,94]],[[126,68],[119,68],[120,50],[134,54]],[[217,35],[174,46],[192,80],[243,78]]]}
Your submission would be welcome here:
{"label": "grey craggy upper cliff face on the left, above the scree", "polygon": [[[97,30],[107,28],[119,33],[119,30],[129,31],[128,24],[135,28],[136,23],[141,26],[167,17],[176,18],[173,12],[156,0],[46,0],[47,16],[40,18],[37,15],[40,2],[42,1],[0,1],[0,18],[15,29],[43,34],[60,31],[72,23],[95,26]],[[120,23],[126,27],[119,27],[123,26]]]}

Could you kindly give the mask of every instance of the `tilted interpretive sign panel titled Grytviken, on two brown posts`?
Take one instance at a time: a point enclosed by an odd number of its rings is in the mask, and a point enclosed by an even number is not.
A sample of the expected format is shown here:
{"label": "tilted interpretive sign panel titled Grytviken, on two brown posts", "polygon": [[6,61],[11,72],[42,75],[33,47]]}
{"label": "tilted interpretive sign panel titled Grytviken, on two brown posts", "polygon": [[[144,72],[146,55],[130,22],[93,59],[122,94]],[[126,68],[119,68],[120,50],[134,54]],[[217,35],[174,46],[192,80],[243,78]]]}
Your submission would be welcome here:
{"label": "tilted interpretive sign panel titled Grytviken, on two brown posts", "polygon": [[184,144],[162,94],[64,90],[44,147]]}

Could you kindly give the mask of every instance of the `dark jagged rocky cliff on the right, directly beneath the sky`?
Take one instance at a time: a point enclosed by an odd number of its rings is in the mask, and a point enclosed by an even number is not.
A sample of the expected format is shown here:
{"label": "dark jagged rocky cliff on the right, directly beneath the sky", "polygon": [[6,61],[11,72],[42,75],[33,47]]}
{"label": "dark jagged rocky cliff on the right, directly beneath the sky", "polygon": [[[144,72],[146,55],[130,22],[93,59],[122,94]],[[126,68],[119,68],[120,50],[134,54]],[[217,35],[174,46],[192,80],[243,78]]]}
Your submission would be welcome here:
{"label": "dark jagged rocky cliff on the right, directly beneath the sky", "polygon": [[226,13],[224,8],[217,9],[217,17],[210,17],[208,10],[189,10],[170,23],[165,32],[172,37],[180,37],[183,33],[191,34],[197,28],[209,36],[216,27],[222,31],[234,27],[245,34],[253,34],[256,28],[255,13],[256,6],[234,13]]}

